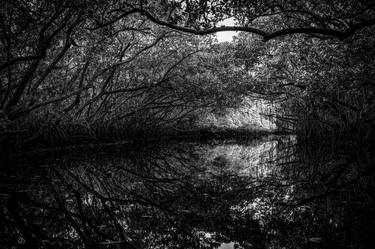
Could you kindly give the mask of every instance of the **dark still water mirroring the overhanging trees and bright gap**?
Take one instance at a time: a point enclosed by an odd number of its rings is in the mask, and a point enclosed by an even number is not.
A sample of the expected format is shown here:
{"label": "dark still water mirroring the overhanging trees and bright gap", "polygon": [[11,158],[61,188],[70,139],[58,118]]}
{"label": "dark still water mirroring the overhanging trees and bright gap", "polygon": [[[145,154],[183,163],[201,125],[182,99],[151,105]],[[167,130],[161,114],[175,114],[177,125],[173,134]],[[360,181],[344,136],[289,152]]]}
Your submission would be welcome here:
{"label": "dark still water mirroring the overhanging trees and bright gap", "polygon": [[294,137],[13,156],[0,248],[375,248],[374,166]]}

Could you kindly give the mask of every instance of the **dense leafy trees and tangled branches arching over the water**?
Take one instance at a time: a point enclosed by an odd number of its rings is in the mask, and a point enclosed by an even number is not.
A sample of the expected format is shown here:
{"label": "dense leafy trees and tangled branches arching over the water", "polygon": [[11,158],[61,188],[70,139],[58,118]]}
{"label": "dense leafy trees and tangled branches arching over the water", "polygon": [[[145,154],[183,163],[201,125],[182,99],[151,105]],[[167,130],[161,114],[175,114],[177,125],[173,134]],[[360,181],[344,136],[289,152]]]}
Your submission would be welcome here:
{"label": "dense leafy trees and tangled branches arching over the water", "polygon": [[[272,101],[280,128],[371,132],[374,5],[3,1],[2,141],[191,128],[246,96]],[[217,44],[224,30],[242,33]]]}

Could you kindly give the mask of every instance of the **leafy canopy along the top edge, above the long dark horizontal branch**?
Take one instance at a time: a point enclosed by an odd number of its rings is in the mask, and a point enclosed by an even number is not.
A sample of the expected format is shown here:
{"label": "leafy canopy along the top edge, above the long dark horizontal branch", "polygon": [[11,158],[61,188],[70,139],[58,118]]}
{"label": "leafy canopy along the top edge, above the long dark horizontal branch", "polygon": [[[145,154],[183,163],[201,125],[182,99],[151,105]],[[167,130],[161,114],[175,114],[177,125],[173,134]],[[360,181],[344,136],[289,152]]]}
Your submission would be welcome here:
{"label": "leafy canopy along the top edge, above the long dark horizontal branch", "polygon": [[[152,22],[192,34],[244,31],[264,40],[296,33],[345,39],[375,24],[373,1],[135,1],[119,3],[114,16],[97,27],[113,24],[123,16],[138,13]],[[218,26],[234,17],[236,26]]]}

